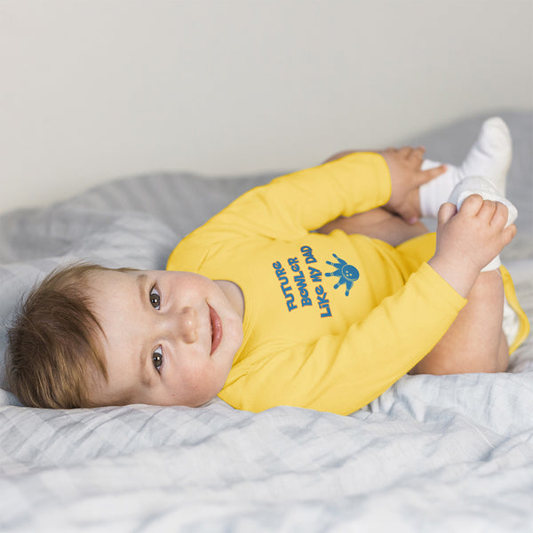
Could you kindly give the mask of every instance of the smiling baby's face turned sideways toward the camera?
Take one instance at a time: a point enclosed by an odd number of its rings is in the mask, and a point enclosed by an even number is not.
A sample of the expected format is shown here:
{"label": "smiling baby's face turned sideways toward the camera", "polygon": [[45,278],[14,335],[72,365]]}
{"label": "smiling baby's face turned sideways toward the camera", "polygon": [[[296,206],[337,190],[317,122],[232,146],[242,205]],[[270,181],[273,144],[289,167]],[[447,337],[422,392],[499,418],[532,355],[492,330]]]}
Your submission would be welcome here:
{"label": "smiling baby's face turned sideways toward the camera", "polygon": [[219,394],[243,342],[243,297],[230,282],[188,272],[104,271],[91,282],[108,381],[98,405],[196,407]]}

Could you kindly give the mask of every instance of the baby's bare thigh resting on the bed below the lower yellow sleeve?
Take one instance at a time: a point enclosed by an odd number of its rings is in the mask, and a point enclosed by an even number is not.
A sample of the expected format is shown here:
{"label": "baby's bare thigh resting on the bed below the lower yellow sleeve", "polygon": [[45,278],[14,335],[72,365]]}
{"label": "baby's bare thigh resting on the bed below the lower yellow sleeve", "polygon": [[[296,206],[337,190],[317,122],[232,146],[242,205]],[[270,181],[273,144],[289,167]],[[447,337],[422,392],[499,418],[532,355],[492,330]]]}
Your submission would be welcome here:
{"label": "baby's bare thigh resting on the bed below the lower yellow sleeve", "polygon": [[504,372],[509,363],[502,330],[504,298],[499,271],[481,273],[455,322],[410,374]]}

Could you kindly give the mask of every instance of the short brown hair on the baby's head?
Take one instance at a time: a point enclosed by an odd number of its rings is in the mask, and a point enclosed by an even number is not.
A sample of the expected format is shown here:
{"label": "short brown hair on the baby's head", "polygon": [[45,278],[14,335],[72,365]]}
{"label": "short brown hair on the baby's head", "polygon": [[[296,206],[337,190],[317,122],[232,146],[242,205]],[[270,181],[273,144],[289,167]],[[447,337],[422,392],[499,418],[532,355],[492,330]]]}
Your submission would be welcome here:
{"label": "short brown hair on the baby's head", "polygon": [[99,338],[103,331],[91,311],[90,278],[108,270],[77,264],[48,274],[21,304],[8,331],[9,387],[30,407],[93,407],[88,383],[94,373],[107,381]]}

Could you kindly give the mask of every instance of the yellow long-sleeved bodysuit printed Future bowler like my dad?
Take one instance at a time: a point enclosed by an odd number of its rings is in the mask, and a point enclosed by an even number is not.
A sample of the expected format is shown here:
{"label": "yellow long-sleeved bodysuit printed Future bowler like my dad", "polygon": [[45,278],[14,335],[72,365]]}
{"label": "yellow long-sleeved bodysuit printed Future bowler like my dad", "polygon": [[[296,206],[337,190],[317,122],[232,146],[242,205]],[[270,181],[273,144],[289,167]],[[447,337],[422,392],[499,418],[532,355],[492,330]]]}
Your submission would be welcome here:
{"label": "yellow long-sleeved bodysuit printed Future bowler like my dad", "polygon": [[434,234],[394,248],[339,230],[313,233],[390,194],[380,155],[347,155],[252,189],[172,251],[167,269],[243,290],[243,346],[220,398],[256,412],[292,405],[348,414],[434,347],[466,302],[426,263]]}

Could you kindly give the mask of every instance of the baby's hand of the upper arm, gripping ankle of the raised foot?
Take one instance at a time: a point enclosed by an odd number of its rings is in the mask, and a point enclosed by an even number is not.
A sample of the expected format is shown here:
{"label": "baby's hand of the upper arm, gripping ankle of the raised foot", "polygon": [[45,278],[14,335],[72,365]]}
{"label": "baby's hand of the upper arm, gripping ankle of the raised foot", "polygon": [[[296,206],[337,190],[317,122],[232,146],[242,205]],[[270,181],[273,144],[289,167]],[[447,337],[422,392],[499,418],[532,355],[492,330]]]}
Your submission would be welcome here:
{"label": "baby's hand of the upper arm, gripping ankle of the raised foot", "polygon": [[403,147],[399,150],[387,148],[379,152],[391,174],[392,193],[385,207],[410,223],[416,222],[420,217],[418,187],[446,171],[444,164],[422,171],[425,151],[423,147]]}

